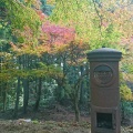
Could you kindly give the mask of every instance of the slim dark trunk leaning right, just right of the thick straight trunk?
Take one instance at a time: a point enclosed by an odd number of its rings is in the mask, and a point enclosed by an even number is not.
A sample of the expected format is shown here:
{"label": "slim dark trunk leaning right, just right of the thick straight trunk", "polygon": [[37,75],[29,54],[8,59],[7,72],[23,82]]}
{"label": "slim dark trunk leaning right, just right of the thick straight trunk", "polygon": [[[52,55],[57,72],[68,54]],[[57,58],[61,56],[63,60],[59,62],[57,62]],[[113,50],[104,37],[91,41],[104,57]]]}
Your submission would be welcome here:
{"label": "slim dark trunk leaning right, just right of the thick straight trunk", "polygon": [[38,96],[37,96],[35,105],[34,105],[34,111],[39,110],[39,103],[41,99],[41,88],[42,88],[42,78],[39,78],[39,89],[38,89]]}

